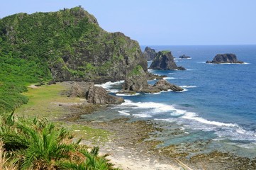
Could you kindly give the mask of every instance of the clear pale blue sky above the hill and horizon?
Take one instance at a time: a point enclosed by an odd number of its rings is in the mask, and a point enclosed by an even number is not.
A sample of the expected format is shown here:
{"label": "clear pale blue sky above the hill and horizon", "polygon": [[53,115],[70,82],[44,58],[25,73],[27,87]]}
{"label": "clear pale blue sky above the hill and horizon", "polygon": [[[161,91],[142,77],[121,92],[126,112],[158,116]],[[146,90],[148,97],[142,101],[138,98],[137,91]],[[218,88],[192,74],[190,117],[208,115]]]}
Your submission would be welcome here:
{"label": "clear pale blue sky above the hill and horizon", "polygon": [[81,5],[140,45],[256,45],[256,0],[0,0],[0,18]]}

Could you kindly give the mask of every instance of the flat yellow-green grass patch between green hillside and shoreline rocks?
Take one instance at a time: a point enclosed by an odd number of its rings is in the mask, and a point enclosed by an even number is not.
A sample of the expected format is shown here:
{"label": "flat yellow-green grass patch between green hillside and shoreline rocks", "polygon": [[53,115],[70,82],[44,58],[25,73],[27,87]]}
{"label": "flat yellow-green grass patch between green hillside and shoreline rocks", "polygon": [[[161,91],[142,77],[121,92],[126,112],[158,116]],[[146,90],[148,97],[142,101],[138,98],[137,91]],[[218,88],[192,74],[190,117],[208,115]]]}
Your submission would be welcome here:
{"label": "flat yellow-green grass patch between green hillside and shoreline rocks", "polygon": [[58,106],[57,103],[78,103],[79,98],[68,98],[61,95],[67,91],[67,87],[62,84],[52,84],[38,86],[37,88],[29,88],[23,93],[29,98],[27,104],[17,108],[15,113],[28,117],[58,118],[65,113],[65,110]]}

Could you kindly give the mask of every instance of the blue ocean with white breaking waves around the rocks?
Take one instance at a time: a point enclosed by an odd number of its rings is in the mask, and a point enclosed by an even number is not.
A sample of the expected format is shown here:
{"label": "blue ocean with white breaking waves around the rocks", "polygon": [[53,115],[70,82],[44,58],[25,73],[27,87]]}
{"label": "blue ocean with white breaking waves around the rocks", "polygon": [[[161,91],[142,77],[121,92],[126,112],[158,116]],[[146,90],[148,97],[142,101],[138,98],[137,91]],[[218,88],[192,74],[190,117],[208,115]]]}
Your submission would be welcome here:
{"label": "blue ocean with white breaking waves around the rocks", "polygon": [[[166,75],[167,81],[182,86],[184,91],[123,95],[125,103],[108,108],[107,113],[96,113],[94,119],[112,115],[113,118],[154,120],[165,126],[161,135],[155,135],[156,140],[163,141],[160,147],[204,142],[207,143],[204,152],[218,149],[256,157],[256,45],[149,47],[156,51],[172,51],[177,66],[187,69],[149,70],[153,74]],[[145,46],[141,49],[144,51]],[[216,54],[223,53],[234,53],[245,64],[206,64]],[[188,55],[191,59],[179,59],[180,55]],[[116,95],[122,82],[100,86]]]}

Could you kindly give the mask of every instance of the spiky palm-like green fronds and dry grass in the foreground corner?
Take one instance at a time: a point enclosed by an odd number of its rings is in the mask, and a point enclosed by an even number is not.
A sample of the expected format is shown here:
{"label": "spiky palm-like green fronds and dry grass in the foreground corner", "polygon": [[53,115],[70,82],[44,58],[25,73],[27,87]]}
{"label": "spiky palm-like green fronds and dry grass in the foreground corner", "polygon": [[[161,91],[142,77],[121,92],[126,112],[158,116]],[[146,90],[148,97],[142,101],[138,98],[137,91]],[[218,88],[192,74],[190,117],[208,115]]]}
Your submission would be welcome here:
{"label": "spiky palm-like green fronds and dry grass in the foreground corner", "polygon": [[107,155],[99,156],[99,147],[89,152],[48,120],[14,118],[12,113],[1,115],[0,123],[5,155],[18,169],[113,169]]}

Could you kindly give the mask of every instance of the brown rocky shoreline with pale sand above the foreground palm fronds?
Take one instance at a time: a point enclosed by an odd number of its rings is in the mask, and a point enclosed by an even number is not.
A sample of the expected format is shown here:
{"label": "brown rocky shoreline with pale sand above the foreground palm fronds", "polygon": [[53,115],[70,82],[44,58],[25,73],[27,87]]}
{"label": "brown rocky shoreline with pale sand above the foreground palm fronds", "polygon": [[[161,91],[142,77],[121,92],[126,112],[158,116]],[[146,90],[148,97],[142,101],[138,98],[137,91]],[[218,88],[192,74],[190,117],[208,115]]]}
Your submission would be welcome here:
{"label": "brown rocky shoreline with pale sand above the foreground palm fronds", "polygon": [[[65,107],[69,108],[69,106]],[[99,107],[91,104],[72,106],[69,108],[72,112],[65,115],[61,121],[111,132],[107,142],[98,141],[96,145],[101,147],[101,152],[111,154],[109,158],[122,169],[254,169],[256,167],[255,158],[238,157],[217,149],[204,153],[204,149],[211,141],[160,147],[162,141],[157,139],[165,132],[166,123],[125,116],[102,120],[100,115],[108,116],[104,112],[106,110],[108,106]],[[81,115],[95,117],[90,120],[81,118]],[[179,133],[176,125],[169,123],[168,126],[170,126],[169,135]],[[95,145],[88,140],[82,143]]]}

